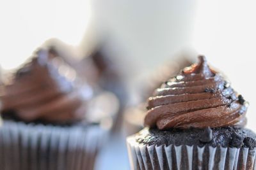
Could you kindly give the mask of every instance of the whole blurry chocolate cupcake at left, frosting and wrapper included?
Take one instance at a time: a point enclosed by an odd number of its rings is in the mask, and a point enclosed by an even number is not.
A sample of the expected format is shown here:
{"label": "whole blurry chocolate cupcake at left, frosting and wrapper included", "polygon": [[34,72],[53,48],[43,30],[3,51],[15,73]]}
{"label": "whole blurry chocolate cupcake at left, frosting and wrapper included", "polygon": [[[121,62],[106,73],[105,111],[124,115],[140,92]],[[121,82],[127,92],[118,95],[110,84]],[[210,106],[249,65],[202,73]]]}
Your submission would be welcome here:
{"label": "whole blurry chocolate cupcake at left, frosting and wrapper included", "polygon": [[46,47],[8,78],[0,92],[0,169],[93,169],[107,132],[89,118],[99,92]]}

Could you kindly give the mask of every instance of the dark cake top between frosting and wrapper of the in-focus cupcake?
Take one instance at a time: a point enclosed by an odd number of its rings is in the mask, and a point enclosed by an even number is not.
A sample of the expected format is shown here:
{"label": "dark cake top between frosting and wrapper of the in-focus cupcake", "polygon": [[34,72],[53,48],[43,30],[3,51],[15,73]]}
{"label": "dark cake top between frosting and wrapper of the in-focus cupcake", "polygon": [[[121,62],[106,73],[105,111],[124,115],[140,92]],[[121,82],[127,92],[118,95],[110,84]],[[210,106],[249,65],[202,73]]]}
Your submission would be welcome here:
{"label": "dark cake top between frosting and wrapper of the in-focus cupcake", "polygon": [[256,134],[239,127],[216,127],[205,129],[143,129],[136,136],[145,145],[210,145],[212,147],[256,147]]}

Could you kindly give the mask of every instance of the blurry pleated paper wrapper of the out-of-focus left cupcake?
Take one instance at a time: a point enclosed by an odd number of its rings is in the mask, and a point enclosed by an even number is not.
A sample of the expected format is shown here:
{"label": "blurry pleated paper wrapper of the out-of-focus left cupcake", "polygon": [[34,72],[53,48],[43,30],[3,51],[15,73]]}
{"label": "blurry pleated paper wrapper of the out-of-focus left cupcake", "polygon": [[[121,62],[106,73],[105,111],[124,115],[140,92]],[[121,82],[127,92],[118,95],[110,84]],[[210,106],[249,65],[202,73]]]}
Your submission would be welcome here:
{"label": "blurry pleated paper wrapper of the out-of-focus left cupcake", "polygon": [[4,121],[0,169],[93,169],[106,131],[97,125],[60,127]]}

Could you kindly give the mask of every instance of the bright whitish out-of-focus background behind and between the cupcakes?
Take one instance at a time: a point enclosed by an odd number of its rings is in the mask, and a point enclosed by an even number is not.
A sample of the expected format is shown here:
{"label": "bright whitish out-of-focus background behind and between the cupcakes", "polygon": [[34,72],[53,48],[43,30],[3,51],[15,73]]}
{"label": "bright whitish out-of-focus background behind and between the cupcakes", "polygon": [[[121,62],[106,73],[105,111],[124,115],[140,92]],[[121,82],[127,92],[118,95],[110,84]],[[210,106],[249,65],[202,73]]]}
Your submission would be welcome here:
{"label": "bright whitish out-of-focus background behind and between the cupcakes", "polygon": [[[136,93],[165,62],[184,55],[196,60],[200,53],[250,102],[248,127],[256,129],[255,8],[253,0],[0,1],[0,66],[15,68],[45,40],[58,38],[83,54],[100,48],[120,60],[129,92]],[[125,139],[115,138],[97,169],[128,169]]]}

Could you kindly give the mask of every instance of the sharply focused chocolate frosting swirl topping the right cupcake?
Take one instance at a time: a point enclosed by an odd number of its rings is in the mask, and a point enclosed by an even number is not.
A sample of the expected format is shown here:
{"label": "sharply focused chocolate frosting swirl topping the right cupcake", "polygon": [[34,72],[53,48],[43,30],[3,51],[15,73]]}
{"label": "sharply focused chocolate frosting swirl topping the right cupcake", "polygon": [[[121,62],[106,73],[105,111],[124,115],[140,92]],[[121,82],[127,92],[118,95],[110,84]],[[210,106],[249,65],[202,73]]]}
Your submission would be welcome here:
{"label": "sharply focused chocolate frosting swirl topping the right cupcake", "polygon": [[186,67],[148,99],[145,125],[158,129],[225,127],[246,124],[248,103],[204,56]]}

